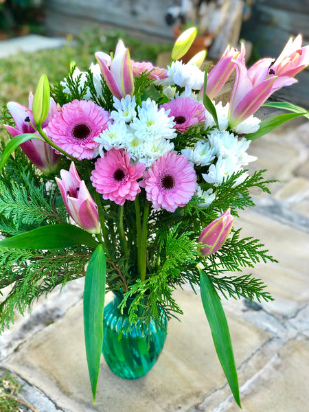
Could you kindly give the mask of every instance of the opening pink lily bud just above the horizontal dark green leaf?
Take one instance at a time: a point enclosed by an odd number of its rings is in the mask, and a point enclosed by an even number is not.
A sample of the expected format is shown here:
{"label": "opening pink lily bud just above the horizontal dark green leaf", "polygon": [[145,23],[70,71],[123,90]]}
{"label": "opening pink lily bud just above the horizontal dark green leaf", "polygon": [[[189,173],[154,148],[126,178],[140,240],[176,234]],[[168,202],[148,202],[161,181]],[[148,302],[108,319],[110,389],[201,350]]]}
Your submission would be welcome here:
{"label": "opening pink lily bud just above the horizontal dark green leaf", "polygon": [[69,172],[60,170],[60,176],[62,180],[56,177],[56,182],[71,218],[90,233],[100,233],[98,206],[84,181],[80,180],[74,163],[71,163]]}

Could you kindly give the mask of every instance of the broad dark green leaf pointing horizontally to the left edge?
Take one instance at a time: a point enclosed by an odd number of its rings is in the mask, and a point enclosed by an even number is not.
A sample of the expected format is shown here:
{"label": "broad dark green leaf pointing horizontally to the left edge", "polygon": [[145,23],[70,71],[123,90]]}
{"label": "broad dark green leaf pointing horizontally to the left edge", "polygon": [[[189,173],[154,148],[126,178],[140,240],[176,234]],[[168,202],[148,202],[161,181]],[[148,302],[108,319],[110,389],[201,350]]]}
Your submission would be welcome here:
{"label": "broad dark green leaf pointing horizontally to the left edge", "polygon": [[52,250],[80,246],[97,247],[90,233],[73,225],[47,225],[0,241],[0,248]]}

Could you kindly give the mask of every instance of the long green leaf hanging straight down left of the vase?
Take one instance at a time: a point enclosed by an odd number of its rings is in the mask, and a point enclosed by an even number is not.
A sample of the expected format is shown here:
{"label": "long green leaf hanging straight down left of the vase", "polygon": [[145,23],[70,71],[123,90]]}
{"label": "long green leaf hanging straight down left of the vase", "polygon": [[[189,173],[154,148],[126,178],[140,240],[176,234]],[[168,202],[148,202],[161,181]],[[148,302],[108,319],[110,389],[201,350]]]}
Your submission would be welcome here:
{"label": "long green leaf hanging straight down left of the vase", "polygon": [[106,260],[99,244],[89,261],[84,282],[84,341],[89,378],[95,402],[103,345],[103,311],[106,282]]}

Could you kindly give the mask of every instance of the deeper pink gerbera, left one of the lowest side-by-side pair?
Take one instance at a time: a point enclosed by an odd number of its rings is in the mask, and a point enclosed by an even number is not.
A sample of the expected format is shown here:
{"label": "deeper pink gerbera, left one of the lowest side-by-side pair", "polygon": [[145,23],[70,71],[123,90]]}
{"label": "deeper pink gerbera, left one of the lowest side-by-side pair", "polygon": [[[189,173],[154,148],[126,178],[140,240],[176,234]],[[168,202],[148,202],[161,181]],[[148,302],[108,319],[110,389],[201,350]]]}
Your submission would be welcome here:
{"label": "deeper pink gerbera, left one of the lowest side-by-side pair", "polygon": [[90,179],[104,199],[123,205],[126,200],[134,201],[141,191],[137,179],[143,175],[145,168],[144,163],[130,165],[128,152],[113,148],[95,162]]}

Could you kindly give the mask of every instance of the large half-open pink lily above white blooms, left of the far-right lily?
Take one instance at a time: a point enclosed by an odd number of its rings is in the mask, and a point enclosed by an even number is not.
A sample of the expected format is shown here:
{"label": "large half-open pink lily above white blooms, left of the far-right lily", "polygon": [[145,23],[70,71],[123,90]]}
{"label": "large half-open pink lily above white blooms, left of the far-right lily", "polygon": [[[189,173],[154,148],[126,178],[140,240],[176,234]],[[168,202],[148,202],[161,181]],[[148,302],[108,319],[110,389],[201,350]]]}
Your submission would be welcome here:
{"label": "large half-open pink lily above white blooms, left of the far-right lily", "polygon": [[253,115],[275,91],[297,82],[288,76],[268,76],[263,79],[258,74],[258,65],[248,71],[244,61],[232,62],[236,65],[236,79],[229,104],[228,118],[231,128]]}

